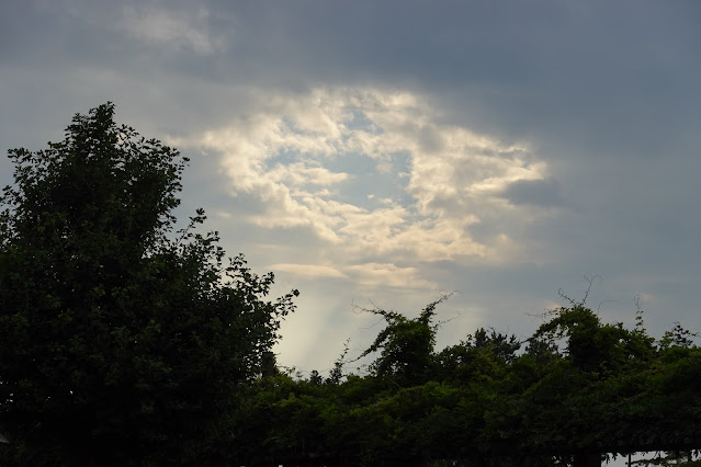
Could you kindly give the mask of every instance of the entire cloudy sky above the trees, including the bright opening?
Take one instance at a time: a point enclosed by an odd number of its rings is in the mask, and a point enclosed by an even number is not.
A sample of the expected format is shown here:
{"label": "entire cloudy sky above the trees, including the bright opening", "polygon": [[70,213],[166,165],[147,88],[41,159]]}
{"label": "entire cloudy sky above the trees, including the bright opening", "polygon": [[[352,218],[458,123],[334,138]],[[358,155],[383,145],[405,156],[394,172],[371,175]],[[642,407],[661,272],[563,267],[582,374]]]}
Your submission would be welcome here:
{"label": "entire cloudy sky above the trees, including the bright opening", "polygon": [[[574,300],[701,331],[701,2],[0,2],[0,146],[76,112],[192,159],[185,218],[302,293],[279,361],[332,366],[443,292],[439,345]],[[12,181],[7,158],[0,184]]]}

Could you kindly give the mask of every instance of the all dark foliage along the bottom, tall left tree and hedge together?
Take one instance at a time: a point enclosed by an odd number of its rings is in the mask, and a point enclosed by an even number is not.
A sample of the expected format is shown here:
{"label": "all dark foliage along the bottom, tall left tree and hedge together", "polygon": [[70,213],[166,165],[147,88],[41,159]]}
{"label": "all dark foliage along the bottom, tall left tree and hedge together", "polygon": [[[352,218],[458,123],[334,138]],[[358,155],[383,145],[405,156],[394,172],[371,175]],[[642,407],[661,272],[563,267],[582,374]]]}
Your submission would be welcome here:
{"label": "all dark foliage along the bottom, tall left tree and hedge together", "polygon": [[[281,373],[296,291],[226,260],[186,158],[116,125],[111,103],[61,143],[12,149],[0,202],[0,465],[574,466],[701,445],[701,353],[601,322],[584,303],[528,340],[479,329],[437,350],[440,297],[386,327],[368,372]],[[3,438],[0,438],[2,441]]]}

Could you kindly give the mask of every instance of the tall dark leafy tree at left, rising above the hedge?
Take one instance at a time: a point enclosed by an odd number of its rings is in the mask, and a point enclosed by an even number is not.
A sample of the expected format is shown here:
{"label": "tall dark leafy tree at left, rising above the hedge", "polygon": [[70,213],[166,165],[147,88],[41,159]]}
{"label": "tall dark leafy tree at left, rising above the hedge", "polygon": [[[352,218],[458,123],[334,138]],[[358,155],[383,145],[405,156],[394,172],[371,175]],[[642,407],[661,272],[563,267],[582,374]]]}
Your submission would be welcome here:
{"label": "tall dark leafy tree at left, rising above the hedge", "polygon": [[12,149],[0,213],[0,430],[12,463],[201,463],[260,371],[296,291],[225,263],[197,209],[174,232],[188,159],[77,114]]}

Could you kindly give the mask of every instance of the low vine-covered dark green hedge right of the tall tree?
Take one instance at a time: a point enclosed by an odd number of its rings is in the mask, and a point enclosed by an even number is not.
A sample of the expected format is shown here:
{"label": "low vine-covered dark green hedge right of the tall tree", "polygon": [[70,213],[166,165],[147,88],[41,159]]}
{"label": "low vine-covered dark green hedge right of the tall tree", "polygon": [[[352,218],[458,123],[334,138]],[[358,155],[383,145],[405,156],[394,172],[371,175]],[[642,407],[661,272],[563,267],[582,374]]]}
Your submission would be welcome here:
{"label": "low vine-covered dark green hedge right of the tall tree", "polygon": [[241,462],[598,466],[701,445],[701,350],[680,326],[655,340],[642,314],[625,329],[573,304],[524,342],[479,329],[434,351],[436,305],[415,319],[374,310],[387,326],[368,375],[339,379],[339,363],[326,378],[258,379]]}

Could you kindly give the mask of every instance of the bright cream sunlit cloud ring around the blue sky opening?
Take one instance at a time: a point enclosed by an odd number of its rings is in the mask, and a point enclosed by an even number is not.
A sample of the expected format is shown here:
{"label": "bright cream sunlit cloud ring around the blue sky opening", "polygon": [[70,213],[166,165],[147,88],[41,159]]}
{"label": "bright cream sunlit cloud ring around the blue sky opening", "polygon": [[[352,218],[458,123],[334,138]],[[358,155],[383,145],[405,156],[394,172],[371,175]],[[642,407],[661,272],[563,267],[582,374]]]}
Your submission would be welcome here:
{"label": "bright cream sunlit cloud ring around the blue sky opening", "polygon": [[[527,210],[533,207],[512,205],[502,193],[513,182],[549,176],[525,148],[440,123],[416,94],[377,89],[267,94],[252,113],[177,143],[221,155],[231,192],[265,206],[251,221],[309,227],[326,240],[329,257],[355,267],[342,274],[362,270],[405,286],[432,284],[408,280],[407,272],[416,274],[410,269],[376,264],[518,258],[508,226],[532,217]],[[490,236],[477,241],[471,235],[472,226],[495,218]]]}

